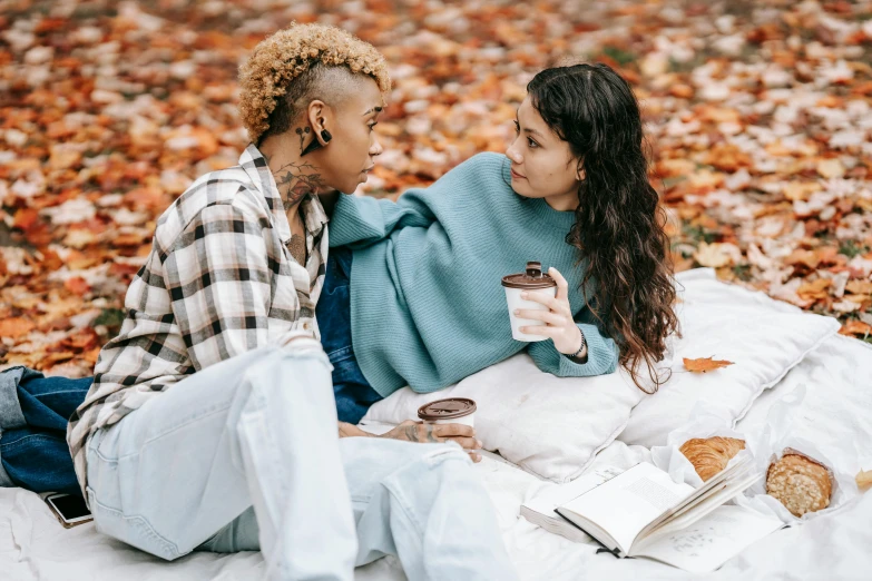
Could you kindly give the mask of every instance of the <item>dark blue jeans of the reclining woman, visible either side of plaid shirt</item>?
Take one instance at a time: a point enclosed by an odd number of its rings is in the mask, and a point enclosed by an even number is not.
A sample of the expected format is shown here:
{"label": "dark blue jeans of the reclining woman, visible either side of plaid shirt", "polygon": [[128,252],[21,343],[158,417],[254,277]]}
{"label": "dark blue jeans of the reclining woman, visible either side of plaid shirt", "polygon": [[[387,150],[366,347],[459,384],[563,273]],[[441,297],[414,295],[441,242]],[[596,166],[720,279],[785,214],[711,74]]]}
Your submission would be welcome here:
{"label": "dark blue jeans of the reclining woman, visible either side of plaid shirt", "polygon": [[[350,249],[331,250],[316,316],[322,345],[333,364],[339,420],[356,424],[382,396],[363,376],[351,344],[351,263]],[[27,425],[0,435],[0,463],[13,484],[35,492],[80,494],[67,447],[67,421],[85,401],[92,380],[26,371],[17,391]]]}

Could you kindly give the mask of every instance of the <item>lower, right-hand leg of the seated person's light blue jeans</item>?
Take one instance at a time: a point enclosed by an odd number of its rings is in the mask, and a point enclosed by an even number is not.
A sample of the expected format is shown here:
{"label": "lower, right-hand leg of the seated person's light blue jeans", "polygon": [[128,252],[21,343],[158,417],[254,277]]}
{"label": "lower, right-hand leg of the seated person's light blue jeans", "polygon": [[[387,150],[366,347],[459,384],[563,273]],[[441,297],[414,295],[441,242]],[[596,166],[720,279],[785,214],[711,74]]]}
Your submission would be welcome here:
{"label": "lower, right-hand leg of the seated person's light blue jeans", "polygon": [[[512,580],[493,505],[455,444],[344,437],[340,452],[357,528],[357,567],[400,558],[411,581]],[[257,518],[242,513],[200,551],[256,551]]]}

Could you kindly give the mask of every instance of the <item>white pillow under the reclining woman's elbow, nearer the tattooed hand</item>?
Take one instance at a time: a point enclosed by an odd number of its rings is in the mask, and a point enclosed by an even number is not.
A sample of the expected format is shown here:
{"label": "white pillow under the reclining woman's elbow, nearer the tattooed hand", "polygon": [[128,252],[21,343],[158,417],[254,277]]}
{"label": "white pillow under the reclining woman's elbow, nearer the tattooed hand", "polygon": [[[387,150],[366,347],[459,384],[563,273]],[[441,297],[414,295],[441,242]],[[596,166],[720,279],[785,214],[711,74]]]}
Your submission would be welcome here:
{"label": "white pillow under the reclining woman's elbow, nearer the tattooed hand", "polygon": [[597,377],[557,377],[521,352],[445,390],[419,394],[403,387],[370,407],[361,421],[399,424],[443,397],[476,401],[476,435],[538,476],[568,482],[610,444],[644,393],[623,367]]}

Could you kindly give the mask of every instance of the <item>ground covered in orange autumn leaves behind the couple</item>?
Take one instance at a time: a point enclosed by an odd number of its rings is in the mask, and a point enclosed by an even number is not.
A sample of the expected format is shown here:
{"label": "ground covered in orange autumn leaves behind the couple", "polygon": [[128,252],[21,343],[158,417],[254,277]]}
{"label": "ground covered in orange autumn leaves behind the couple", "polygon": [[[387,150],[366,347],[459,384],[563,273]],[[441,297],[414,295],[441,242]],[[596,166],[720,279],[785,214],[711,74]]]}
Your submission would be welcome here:
{"label": "ground covered in orange autumn leaves behind the couple", "polygon": [[0,366],[90,373],[157,217],[246,145],[238,65],[293,20],[391,65],[373,195],[503,150],[537,70],[617,67],[678,269],[872,341],[870,0],[0,0]]}

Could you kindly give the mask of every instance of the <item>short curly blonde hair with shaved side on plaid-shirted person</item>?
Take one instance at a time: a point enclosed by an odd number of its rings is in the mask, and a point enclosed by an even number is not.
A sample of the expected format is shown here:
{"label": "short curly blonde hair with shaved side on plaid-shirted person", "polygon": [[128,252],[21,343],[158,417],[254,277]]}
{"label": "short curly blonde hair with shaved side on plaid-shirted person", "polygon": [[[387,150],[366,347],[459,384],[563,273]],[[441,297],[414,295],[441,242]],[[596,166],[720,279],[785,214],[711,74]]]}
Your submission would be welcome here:
{"label": "short curly blonde hair with shaved side on plaid-shirted person", "polygon": [[239,69],[239,117],[252,142],[286,131],[313,98],[334,105],[317,93],[330,92],[341,72],[372,77],[382,92],[391,88],[384,57],[339,28],[294,22],[262,40]]}

